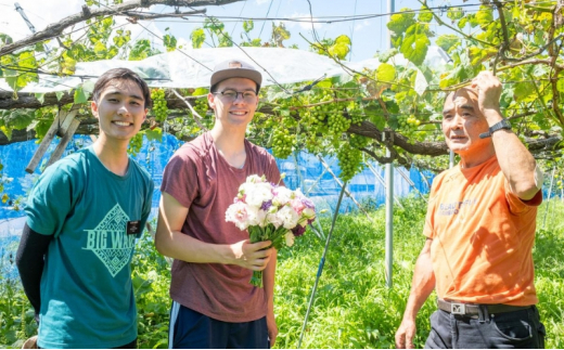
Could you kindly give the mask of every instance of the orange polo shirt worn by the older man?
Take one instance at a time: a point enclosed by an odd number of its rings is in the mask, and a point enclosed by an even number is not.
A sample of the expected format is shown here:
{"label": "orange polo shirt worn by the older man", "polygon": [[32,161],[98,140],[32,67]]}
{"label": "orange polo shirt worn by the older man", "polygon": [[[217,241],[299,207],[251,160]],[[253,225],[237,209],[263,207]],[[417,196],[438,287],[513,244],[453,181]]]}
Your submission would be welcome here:
{"label": "orange polo shirt worn by the older man", "polygon": [[541,203],[541,191],[527,202],[511,193],[496,156],[435,178],[423,234],[433,239],[438,297],[536,304],[533,244]]}

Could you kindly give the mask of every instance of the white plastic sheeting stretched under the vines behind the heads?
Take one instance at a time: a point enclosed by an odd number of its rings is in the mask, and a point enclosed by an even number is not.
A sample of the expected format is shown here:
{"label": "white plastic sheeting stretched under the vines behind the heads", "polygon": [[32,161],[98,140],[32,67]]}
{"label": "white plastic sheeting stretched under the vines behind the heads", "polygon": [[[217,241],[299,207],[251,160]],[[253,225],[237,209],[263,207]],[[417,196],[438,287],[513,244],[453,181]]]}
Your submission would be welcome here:
{"label": "white plastic sheeting stretched under the vines behind the heads", "polygon": [[[143,61],[105,60],[80,62],[76,65],[74,76],[59,77],[39,75],[38,82],[26,86],[22,92],[44,93],[67,91],[81,83],[92,82],[111,68],[127,67],[139,73],[152,87],[161,88],[203,88],[209,86],[209,77],[214,66],[225,60],[243,60],[254,65],[262,74],[262,86],[310,81],[323,76],[333,77],[347,74],[345,69],[328,56],[313,52],[283,48],[215,48],[175,50],[148,57]],[[431,67],[444,67],[447,55],[440,48],[431,47],[425,64]],[[402,55],[396,55],[393,62],[408,65]],[[343,64],[355,70],[375,69],[380,65],[377,59]],[[421,78],[422,75],[421,75]],[[424,79],[424,78],[423,78]],[[274,81],[275,80],[275,81]],[[422,86],[425,86],[423,83]],[[0,88],[11,90],[0,79]]]}

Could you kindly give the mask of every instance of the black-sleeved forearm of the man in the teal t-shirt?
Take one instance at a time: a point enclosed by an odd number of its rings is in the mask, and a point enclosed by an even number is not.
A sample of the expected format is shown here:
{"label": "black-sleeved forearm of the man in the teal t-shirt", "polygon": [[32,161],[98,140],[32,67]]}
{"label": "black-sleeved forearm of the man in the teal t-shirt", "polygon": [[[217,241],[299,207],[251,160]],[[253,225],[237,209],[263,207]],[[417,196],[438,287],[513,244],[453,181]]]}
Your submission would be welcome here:
{"label": "black-sleeved forearm of the man in the teal t-shirt", "polygon": [[41,309],[41,276],[44,255],[51,239],[52,236],[41,235],[25,224],[15,258],[24,293],[36,314],[39,314]]}

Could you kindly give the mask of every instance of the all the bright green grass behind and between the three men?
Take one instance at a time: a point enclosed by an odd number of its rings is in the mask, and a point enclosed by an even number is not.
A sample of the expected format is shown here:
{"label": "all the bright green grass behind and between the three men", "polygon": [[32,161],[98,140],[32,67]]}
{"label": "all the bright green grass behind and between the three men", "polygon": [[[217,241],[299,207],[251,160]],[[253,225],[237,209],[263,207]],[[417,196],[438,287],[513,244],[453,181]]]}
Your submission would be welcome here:
{"label": "all the bright green grass behind and between the three men", "polygon": [[[424,237],[425,203],[405,199],[394,215],[393,288],[385,286],[384,210],[343,215],[337,219],[323,274],[304,335],[303,348],[393,348],[411,286],[413,265]],[[539,208],[534,250],[539,310],[547,327],[547,348],[564,348],[564,204],[552,200],[544,222]],[[321,220],[325,234],[330,218]],[[309,231],[292,249],[280,252],[275,286],[279,327],[277,348],[296,348],[325,241]],[[149,235],[133,260],[139,309],[139,347],[166,348],[168,263],[155,252]],[[415,345],[423,347],[435,296],[418,315]],[[0,347],[18,347],[35,324],[18,282],[0,277]]]}

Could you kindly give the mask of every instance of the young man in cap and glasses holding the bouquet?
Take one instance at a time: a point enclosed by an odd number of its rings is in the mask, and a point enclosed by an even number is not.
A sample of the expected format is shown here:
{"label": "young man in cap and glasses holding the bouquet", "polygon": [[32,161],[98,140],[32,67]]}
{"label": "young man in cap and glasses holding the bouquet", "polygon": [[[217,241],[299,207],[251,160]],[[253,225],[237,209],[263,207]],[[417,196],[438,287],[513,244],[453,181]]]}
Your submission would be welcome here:
{"label": "young man in cap and glasses holding the bouquet", "polygon": [[[180,147],[163,176],[155,238],[175,259],[170,348],[268,348],[275,341],[273,289],[277,251],[251,244],[226,222],[226,210],[251,174],[280,181],[274,158],[245,139],[258,105],[261,75],[230,60],[211,75],[207,99],[214,128]],[[251,285],[264,270],[264,288]]]}

